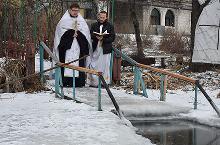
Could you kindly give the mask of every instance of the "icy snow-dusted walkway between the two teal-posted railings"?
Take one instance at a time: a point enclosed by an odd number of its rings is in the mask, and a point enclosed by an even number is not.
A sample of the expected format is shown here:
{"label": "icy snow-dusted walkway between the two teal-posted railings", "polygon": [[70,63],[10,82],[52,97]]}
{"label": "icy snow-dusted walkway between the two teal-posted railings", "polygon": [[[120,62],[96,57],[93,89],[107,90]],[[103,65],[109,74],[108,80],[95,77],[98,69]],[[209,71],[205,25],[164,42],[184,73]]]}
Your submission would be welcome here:
{"label": "icy snow-dusted walkway between the two teal-posted railings", "polygon": [[[191,108],[174,106],[167,102],[152,101],[140,95],[127,94],[122,90],[111,89],[125,117],[168,116],[187,113]],[[72,88],[64,88],[65,95],[72,97]],[[76,88],[76,99],[97,107],[98,88]],[[102,89],[102,109],[114,110],[114,106],[106,92]]]}

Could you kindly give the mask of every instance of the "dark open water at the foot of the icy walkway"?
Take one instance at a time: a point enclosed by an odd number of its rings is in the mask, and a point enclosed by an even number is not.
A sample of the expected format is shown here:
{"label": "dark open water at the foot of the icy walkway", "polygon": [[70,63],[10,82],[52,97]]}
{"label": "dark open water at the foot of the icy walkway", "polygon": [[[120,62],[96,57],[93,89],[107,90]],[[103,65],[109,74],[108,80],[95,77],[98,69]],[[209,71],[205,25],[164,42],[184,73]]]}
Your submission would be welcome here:
{"label": "dark open water at the foot of the icy walkway", "polygon": [[138,134],[157,145],[220,145],[220,129],[182,121],[132,121]]}

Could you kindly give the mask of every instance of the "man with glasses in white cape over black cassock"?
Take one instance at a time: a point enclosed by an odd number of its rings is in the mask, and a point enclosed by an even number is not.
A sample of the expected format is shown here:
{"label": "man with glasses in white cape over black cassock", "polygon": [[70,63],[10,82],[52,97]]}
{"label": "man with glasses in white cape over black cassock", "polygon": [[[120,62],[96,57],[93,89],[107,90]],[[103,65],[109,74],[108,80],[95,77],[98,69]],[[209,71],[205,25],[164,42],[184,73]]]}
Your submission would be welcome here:
{"label": "man with glasses in white cape over black cassock", "polygon": [[[85,57],[91,48],[89,27],[79,14],[79,5],[72,4],[56,27],[54,38],[54,53],[62,63]],[[71,65],[85,67],[86,60],[80,59]],[[73,70],[61,68],[63,85],[71,87],[73,84]],[[76,87],[85,86],[85,73],[76,71]]]}

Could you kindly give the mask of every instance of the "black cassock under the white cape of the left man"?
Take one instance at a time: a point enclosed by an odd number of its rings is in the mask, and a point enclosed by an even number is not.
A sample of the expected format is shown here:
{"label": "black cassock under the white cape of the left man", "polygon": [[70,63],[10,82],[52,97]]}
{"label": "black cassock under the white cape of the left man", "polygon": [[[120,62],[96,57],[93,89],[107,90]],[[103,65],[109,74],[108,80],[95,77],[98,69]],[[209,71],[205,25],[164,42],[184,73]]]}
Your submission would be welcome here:
{"label": "black cassock under the white cape of the left man", "polygon": [[[66,51],[71,48],[72,42],[74,39],[74,33],[75,30],[70,29],[67,30],[61,37],[60,43],[58,45],[58,51],[59,51],[59,58],[60,62],[62,63],[68,63],[65,62],[65,56],[66,56]],[[80,31],[77,31],[77,42],[80,47],[80,55],[79,58],[88,55],[89,54],[89,43],[88,40],[86,39],[85,35],[83,35]],[[79,66],[80,67],[85,67],[85,58],[79,60]],[[61,75],[62,75],[62,80],[63,80],[63,86],[64,87],[72,87],[73,86],[73,78],[72,77],[64,77],[64,68],[61,68]],[[79,77],[75,77],[75,84],[76,87],[83,87],[85,86],[85,73],[84,72],[79,72]]]}

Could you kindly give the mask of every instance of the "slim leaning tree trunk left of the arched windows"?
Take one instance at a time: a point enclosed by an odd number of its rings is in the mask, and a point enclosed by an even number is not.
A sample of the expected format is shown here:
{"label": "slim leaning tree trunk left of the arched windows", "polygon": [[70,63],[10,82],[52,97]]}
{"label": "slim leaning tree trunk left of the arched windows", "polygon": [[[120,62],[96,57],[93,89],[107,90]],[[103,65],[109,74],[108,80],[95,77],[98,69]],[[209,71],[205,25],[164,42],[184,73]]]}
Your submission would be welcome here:
{"label": "slim leaning tree trunk left of the arched windows", "polygon": [[136,14],[136,8],[135,8],[135,0],[128,0],[130,5],[130,15],[131,19],[133,21],[134,30],[135,30],[135,38],[137,42],[137,54],[138,56],[144,56],[143,53],[143,46],[142,46],[142,40],[140,35],[140,28],[139,28],[139,22]]}

